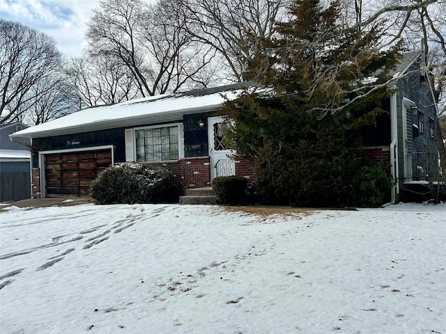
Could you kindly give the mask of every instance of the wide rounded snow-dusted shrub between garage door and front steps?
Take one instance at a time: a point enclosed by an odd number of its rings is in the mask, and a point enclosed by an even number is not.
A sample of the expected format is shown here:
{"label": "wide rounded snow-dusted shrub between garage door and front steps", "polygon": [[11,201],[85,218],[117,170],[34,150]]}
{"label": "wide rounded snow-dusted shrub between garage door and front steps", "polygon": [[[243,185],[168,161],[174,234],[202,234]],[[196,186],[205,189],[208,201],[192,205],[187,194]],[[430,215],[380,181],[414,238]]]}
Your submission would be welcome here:
{"label": "wide rounded snow-dusted shrub between garage door and front steps", "polygon": [[167,168],[144,164],[111,166],[93,181],[90,195],[99,204],[172,202],[174,175]]}

